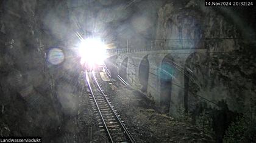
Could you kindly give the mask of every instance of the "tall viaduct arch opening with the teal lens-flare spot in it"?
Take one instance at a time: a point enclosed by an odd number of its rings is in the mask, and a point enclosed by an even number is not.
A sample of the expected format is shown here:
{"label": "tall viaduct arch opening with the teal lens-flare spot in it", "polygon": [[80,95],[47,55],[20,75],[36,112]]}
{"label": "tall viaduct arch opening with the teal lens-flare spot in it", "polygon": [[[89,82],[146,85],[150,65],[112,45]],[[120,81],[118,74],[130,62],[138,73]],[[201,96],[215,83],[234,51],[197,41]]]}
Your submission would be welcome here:
{"label": "tall viaduct arch opening with the teal lens-flare spot in it", "polygon": [[173,58],[167,55],[160,65],[160,107],[162,113],[169,113],[171,106],[172,77],[174,75],[172,62]]}

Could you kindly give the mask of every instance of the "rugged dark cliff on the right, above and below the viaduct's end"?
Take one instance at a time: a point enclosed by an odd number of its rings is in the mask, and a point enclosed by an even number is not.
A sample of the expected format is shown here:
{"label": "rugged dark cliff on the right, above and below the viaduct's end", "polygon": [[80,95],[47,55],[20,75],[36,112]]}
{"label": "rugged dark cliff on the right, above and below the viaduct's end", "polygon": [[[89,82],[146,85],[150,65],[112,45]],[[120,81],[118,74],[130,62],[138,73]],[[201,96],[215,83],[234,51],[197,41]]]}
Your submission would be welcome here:
{"label": "rugged dark cliff on the right, above and below the viaduct's end", "polygon": [[213,107],[212,102],[224,99],[230,110],[243,112],[255,99],[255,44],[241,28],[255,19],[234,15],[230,8],[213,9],[195,1],[170,1],[158,11],[155,39],[166,40],[156,41],[155,47],[207,49],[207,54],[190,55],[185,64],[189,110],[205,99]]}

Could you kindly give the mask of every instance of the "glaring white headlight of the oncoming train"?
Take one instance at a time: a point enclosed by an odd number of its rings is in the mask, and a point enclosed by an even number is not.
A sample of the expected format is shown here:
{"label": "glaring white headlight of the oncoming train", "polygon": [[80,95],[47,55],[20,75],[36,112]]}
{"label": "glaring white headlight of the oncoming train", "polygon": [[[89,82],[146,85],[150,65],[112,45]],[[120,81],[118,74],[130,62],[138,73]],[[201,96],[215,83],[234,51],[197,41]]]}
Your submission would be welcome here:
{"label": "glaring white headlight of the oncoming train", "polygon": [[87,63],[89,66],[102,65],[105,58],[106,46],[99,39],[85,39],[79,45],[81,64]]}

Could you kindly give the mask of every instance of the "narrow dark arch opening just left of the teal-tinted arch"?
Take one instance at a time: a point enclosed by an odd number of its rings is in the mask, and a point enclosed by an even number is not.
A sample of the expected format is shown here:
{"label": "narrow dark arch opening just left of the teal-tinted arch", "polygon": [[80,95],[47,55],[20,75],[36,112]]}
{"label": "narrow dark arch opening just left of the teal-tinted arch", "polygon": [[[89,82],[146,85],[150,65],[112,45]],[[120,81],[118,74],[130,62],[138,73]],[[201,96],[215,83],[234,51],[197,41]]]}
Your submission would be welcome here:
{"label": "narrow dark arch opening just left of the teal-tinted arch", "polygon": [[146,92],[148,90],[149,81],[149,61],[148,55],[144,56],[139,67],[139,80],[142,85],[141,91]]}

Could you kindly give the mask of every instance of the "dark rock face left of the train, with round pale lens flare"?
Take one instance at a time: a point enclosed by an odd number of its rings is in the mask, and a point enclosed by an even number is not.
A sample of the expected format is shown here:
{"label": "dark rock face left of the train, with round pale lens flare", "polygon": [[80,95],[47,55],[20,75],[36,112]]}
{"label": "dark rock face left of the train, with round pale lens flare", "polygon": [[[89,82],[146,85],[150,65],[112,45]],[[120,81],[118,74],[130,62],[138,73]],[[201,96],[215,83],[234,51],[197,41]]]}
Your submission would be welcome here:
{"label": "dark rock face left of the train, with round pale lens flare", "polygon": [[[63,118],[76,113],[72,95],[76,81],[70,80],[78,77],[79,69],[76,59],[67,58],[72,54],[63,42],[69,29],[64,27],[65,5],[65,1],[0,2],[0,136],[43,136],[50,142]],[[63,55],[50,58],[53,46]]]}

